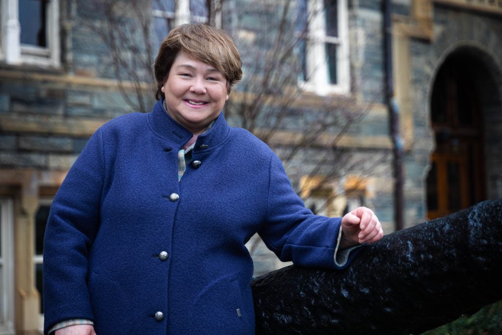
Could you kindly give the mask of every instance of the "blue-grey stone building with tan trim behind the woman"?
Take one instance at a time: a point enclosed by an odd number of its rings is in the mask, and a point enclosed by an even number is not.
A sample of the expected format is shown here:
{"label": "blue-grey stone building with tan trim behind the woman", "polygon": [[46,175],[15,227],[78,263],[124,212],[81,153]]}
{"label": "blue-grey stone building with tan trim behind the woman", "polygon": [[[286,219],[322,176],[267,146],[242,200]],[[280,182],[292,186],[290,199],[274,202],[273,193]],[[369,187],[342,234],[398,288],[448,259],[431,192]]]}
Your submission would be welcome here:
{"label": "blue-grey stone building with tan trim behind the woman", "polygon": [[[0,333],[41,329],[45,221],[89,136],[155,102],[149,71],[137,69],[133,78],[117,57],[131,64],[149,55],[148,45],[155,49],[169,27],[184,22],[210,18],[234,37],[248,80],[233,89],[227,119],[276,150],[316,212],[341,215],[362,204],[386,232],[395,230],[395,152],[403,171],[398,227],[501,197],[502,3],[385,3],[221,0],[206,8],[194,0],[0,0]],[[114,26],[92,4],[114,4],[107,8],[131,28],[124,31],[147,27],[147,43],[133,51],[111,43],[119,35],[106,40],[103,32]],[[273,63],[271,55],[287,46],[289,56]],[[272,81],[252,85],[271,69],[280,69]],[[385,94],[388,74],[392,95]],[[254,119],[249,106],[258,102]],[[254,241],[248,246],[257,274],[281,266]]]}

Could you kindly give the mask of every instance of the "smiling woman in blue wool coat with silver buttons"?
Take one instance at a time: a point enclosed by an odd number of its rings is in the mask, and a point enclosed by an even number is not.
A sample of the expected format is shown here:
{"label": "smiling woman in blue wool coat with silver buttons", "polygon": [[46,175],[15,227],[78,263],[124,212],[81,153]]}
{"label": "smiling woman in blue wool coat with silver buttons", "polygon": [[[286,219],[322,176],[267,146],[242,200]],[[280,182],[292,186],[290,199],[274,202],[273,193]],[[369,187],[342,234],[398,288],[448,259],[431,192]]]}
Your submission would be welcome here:
{"label": "smiling woman in blue wool coat with silver buttons", "polygon": [[48,221],[46,333],[253,334],[255,233],[283,261],[334,269],[382,237],[365,207],[313,215],[270,148],[228,127],[240,66],[223,31],[177,27],[155,61],[151,113],[91,137]]}

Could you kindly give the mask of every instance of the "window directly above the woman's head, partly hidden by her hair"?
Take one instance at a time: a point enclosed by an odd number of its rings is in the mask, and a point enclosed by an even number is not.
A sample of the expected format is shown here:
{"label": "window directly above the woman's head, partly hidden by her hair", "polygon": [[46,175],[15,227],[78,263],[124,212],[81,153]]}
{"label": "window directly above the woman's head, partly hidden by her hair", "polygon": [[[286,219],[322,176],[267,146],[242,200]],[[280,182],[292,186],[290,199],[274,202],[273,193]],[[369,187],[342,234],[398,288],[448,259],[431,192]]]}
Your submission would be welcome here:
{"label": "window directly above the woman's head, partly hidden by her hair", "polygon": [[159,43],[175,26],[206,23],[209,9],[206,0],[153,0],[155,38]]}

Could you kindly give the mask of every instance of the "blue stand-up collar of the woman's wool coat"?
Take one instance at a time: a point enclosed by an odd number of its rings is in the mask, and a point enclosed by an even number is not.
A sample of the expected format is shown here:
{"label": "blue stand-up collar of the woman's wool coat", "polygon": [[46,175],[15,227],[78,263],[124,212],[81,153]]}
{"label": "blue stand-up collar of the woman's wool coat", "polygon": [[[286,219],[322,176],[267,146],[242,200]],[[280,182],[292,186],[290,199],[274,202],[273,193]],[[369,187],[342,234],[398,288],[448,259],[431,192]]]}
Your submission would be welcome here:
{"label": "blue stand-up collar of the woman's wool coat", "polygon": [[[148,114],[148,122],[152,131],[159,137],[174,142],[179,150],[192,138],[192,133],[174,121],[163,107],[164,99],[157,101],[152,111]],[[213,126],[204,134],[199,135],[195,142],[195,151],[209,150],[221,144],[227,137],[228,127],[223,113],[220,113]]]}

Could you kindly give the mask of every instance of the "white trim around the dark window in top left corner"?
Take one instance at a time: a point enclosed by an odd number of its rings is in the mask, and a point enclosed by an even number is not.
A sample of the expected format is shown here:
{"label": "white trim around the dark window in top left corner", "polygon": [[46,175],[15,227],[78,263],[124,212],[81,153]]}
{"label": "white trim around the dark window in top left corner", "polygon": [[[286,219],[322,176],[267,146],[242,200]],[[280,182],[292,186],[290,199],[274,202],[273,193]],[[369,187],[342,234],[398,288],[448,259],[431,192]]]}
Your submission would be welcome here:
{"label": "white trim around the dark window in top left corner", "polygon": [[2,5],[2,33],[0,60],[7,64],[32,64],[60,67],[59,0],[49,0],[47,11],[47,48],[21,44],[19,1],[4,0]]}

